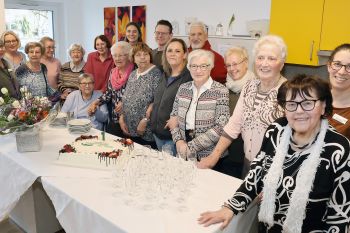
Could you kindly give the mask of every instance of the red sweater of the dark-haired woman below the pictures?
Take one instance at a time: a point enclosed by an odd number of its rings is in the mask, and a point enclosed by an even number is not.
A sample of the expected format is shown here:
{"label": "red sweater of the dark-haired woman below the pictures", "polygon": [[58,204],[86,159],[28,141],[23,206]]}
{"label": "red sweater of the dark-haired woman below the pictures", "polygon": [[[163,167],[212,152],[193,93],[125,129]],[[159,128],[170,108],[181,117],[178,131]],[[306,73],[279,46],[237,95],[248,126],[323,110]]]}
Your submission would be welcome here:
{"label": "red sweater of the dark-haired woman below the pictures", "polygon": [[104,93],[107,88],[108,77],[114,67],[112,55],[110,52],[108,53],[107,59],[103,62],[100,60],[97,51],[89,53],[84,67],[84,72],[92,74],[95,78],[95,90],[102,91],[102,93]]}

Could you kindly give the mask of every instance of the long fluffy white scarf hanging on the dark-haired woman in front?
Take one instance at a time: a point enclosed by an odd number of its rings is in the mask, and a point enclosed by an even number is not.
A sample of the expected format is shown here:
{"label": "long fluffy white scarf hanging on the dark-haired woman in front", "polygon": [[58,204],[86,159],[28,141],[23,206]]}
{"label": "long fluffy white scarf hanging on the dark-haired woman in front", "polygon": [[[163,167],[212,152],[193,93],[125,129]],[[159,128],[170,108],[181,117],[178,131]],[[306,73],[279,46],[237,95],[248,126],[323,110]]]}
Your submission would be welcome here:
{"label": "long fluffy white scarf hanging on the dark-haired woman in front", "polygon": [[[286,219],[283,224],[283,232],[300,233],[305,219],[306,205],[314,183],[317,167],[320,163],[320,154],[323,152],[324,138],[328,130],[328,121],[322,120],[321,129],[314,145],[310,148],[310,155],[303,162],[296,177],[296,186],[290,199]],[[283,163],[288,153],[289,142],[292,136],[290,126],[285,126],[276,148],[276,156],[264,180],[263,200],[259,211],[259,220],[265,222],[269,227],[273,226],[275,200],[278,183],[282,182]]]}

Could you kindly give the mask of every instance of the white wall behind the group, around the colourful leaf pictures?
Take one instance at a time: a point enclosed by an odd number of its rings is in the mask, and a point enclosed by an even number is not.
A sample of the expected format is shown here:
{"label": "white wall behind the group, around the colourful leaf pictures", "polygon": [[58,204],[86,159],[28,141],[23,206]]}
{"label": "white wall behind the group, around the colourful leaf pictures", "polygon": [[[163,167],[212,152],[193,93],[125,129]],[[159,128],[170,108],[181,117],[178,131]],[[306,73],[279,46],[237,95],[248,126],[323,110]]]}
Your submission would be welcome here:
{"label": "white wall behind the group, around the colourful leaf pictures", "polygon": [[[0,0],[0,12],[1,2]],[[35,1],[35,0],[34,0]],[[5,3],[29,0],[5,0]],[[235,14],[234,34],[247,35],[246,21],[269,19],[271,0],[36,0],[41,5],[55,4],[59,12],[56,18],[55,39],[58,58],[67,60],[66,50],[72,43],[81,43],[87,52],[93,51],[94,38],[103,33],[103,8],[146,5],[147,43],[155,48],[154,27],[159,19],[178,21],[180,34],[185,34],[185,18],[196,17],[207,25],[224,26],[224,33],[232,14]],[[1,22],[1,16],[0,16]],[[0,24],[1,26],[1,24]]]}

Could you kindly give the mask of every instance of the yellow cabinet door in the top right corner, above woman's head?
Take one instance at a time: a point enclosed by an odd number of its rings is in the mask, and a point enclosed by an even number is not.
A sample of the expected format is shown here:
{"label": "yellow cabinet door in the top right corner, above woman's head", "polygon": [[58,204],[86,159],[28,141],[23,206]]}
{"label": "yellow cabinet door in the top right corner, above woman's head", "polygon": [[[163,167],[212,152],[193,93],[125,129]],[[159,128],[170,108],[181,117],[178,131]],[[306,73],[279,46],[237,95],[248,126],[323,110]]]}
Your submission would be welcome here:
{"label": "yellow cabinet door in the top right corner, above woman's head", "polygon": [[325,0],[320,50],[350,43],[350,0]]}

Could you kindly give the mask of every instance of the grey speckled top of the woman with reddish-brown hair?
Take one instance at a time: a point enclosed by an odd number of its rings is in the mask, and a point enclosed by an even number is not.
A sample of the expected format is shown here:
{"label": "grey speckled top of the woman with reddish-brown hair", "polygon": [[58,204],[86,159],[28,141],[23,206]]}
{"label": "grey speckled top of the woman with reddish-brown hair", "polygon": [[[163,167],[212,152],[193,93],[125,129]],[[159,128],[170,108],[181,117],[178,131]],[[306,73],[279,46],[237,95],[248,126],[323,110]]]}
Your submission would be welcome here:
{"label": "grey speckled top of the woman with reddish-brown hair", "polygon": [[[122,97],[124,120],[132,137],[139,137],[136,132],[137,126],[146,117],[147,108],[153,103],[155,89],[162,77],[156,66],[139,77],[136,72],[137,70],[134,70],[130,74]],[[142,139],[154,141],[149,124]]]}

